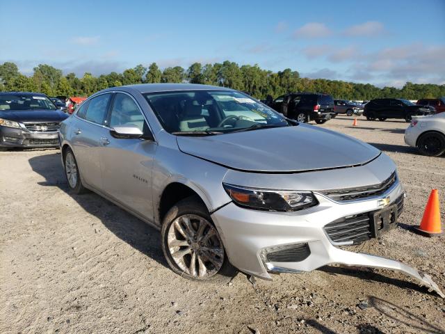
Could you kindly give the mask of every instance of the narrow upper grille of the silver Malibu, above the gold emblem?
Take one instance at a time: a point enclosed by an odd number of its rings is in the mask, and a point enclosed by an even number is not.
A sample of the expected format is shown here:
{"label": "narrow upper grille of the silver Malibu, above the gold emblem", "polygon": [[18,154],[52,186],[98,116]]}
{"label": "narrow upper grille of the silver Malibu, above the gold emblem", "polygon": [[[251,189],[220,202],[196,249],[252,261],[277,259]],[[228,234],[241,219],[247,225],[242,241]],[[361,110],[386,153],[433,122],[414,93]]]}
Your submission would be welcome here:
{"label": "narrow upper grille of the silver Malibu, above the gold emblem", "polygon": [[387,180],[380,184],[374,184],[373,186],[360,186],[356,188],[346,188],[346,189],[335,189],[322,191],[326,196],[332,198],[332,200],[337,200],[339,202],[347,200],[357,200],[360,198],[368,198],[372,196],[379,196],[385,193],[393,184],[397,181],[396,172],[392,173]]}

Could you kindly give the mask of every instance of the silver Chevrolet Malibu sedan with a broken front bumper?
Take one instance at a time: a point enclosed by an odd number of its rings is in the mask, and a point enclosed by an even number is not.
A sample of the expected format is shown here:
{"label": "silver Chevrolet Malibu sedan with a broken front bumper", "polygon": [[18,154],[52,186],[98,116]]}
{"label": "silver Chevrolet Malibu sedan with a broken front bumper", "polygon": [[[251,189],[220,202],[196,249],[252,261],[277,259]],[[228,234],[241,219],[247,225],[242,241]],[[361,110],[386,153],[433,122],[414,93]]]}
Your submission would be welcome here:
{"label": "silver Chevrolet Malibu sedan with a broken front bumper", "polygon": [[299,124],[236,90],[143,84],[92,95],[60,127],[70,189],[95,191],[161,230],[172,271],[327,264],[415,269],[345,249],[391,230],[405,192],[394,162],[353,138]]}

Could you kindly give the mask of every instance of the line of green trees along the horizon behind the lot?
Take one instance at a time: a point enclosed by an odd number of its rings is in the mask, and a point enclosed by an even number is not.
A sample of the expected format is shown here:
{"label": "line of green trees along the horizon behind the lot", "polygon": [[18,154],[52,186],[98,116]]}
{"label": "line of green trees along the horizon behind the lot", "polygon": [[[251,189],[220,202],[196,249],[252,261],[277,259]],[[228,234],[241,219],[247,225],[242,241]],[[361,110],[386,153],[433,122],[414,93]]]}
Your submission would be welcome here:
{"label": "line of green trees along the horizon behind the lot", "polygon": [[263,70],[258,65],[239,66],[231,61],[205,65],[193,63],[187,69],[175,66],[163,70],[152,63],[149,67],[137,65],[122,73],[111,72],[99,77],[86,72],[81,78],[74,73],[63,75],[62,70],[47,64],[34,67],[32,76],[20,73],[15,63],[0,65],[0,91],[31,91],[49,96],[88,96],[109,87],[167,82],[224,86],[242,90],[258,99],[264,99],[267,95],[278,97],[289,92],[327,93],[345,100],[371,100],[379,97],[417,100],[445,96],[445,85],[407,82],[400,89],[378,88],[371,84],[341,80],[302,78],[297,71],[289,68],[273,72]]}

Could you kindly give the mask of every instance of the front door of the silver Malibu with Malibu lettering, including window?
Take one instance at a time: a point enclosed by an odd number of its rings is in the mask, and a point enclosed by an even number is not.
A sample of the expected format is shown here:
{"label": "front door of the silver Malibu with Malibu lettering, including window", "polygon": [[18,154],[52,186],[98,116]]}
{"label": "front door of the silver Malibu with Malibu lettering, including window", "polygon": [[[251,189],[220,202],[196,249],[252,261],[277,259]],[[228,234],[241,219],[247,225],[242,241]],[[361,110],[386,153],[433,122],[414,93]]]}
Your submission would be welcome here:
{"label": "front door of the silver Malibu with Malibu lettering, including window", "polygon": [[[140,106],[128,93],[115,93],[108,124],[136,125],[144,134],[150,132]],[[153,219],[152,166],[157,144],[138,138],[106,136],[101,150],[104,191],[138,214]]]}

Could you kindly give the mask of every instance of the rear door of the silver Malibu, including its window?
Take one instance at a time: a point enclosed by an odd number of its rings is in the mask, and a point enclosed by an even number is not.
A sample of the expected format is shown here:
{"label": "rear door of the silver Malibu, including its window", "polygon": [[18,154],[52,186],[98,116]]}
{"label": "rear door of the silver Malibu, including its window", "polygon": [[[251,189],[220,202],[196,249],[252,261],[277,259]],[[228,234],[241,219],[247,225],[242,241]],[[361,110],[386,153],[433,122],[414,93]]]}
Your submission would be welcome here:
{"label": "rear door of the silver Malibu, including its window", "polygon": [[72,148],[83,182],[98,190],[102,190],[99,157],[109,132],[106,115],[110,101],[111,93],[93,97],[76,113],[72,127]]}

